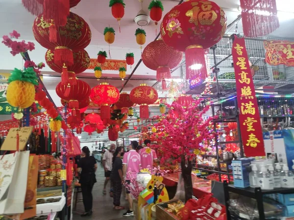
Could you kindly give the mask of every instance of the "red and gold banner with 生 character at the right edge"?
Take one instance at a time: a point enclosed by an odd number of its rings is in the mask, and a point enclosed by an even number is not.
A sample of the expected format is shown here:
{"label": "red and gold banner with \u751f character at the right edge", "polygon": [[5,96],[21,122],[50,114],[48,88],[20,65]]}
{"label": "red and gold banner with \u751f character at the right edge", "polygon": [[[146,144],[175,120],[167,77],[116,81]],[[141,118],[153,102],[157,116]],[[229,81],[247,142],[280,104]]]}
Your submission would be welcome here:
{"label": "red and gold banner with \u751f character at the right edge", "polygon": [[269,65],[294,66],[294,42],[264,41],[266,62]]}

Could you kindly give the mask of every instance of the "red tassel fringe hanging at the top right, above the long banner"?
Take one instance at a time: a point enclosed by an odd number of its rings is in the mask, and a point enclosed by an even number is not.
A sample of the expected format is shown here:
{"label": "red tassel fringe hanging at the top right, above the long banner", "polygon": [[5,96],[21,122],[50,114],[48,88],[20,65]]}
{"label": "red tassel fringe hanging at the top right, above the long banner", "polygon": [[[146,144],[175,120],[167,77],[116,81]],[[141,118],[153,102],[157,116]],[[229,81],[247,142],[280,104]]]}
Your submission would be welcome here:
{"label": "red tassel fringe hanging at the top right, above the long banner", "polygon": [[240,4],[245,37],[263,37],[280,26],[276,0],[240,0]]}

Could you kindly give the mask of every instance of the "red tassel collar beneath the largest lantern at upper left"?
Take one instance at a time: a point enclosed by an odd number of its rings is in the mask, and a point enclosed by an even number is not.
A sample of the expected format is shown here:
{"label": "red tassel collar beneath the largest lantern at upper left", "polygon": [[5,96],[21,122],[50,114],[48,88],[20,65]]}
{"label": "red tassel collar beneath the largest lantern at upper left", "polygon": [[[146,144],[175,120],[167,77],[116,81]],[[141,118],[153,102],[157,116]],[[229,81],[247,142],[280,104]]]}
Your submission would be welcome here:
{"label": "red tassel collar beneath the largest lantern at upper left", "polygon": [[73,65],[73,50],[66,46],[57,46],[54,50],[54,63],[63,66],[64,63],[67,67]]}

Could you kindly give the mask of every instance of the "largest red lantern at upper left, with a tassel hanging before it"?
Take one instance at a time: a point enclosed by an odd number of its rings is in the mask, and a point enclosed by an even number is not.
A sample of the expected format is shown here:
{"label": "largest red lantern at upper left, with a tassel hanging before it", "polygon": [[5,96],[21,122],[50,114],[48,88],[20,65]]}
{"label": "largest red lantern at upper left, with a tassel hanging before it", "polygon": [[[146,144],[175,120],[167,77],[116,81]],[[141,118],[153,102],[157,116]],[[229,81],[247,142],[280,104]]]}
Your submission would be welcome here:
{"label": "largest red lantern at upper left, with a tassel hanging before it", "polygon": [[73,51],[84,49],[91,42],[91,30],[87,22],[70,12],[65,26],[57,29],[56,43],[49,39],[50,24],[38,16],[33,23],[33,34],[43,47],[54,50],[55,64],[66,69],[73,65]]}

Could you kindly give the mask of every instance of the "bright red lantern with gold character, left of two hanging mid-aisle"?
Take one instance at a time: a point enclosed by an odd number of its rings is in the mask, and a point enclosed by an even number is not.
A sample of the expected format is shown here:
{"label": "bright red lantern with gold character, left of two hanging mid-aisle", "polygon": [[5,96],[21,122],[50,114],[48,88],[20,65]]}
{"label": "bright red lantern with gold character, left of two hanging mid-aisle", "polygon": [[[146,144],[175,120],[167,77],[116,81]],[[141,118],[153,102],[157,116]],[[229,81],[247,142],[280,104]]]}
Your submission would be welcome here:
{"label": "bright red lantern with gold character, left of two hanging mid-aisle", "polygon": [[101,119],[110,119],[110,107],[120,98],[118,88],[109,85],[108,83],[100,83],[100,85],[92,88],[90,98],[95,104],[101,105]]}

